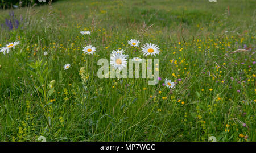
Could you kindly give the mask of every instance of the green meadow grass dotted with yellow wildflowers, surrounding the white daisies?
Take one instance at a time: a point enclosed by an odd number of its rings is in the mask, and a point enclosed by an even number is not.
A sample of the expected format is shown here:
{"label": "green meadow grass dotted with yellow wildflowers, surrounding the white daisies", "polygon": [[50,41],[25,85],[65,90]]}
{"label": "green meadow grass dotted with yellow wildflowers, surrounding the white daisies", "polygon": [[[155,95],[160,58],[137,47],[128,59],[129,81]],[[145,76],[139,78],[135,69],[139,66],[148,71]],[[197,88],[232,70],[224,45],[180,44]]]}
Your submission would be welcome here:
{"label": "green meadow grass dotted with yellow wildflowers, surrounding the white daisies", "polygon": [[[1,28],[0,47],[21,44],[0,53],[0,140],[255,141],[255,4],[63,0],[13,10],[23,22]],[[159,55],[130,39],[157,44]],[[83,53],[88,44],[94,55]],[[98,78],[97,61],[115,49],[158,58],[162,80]]]}

